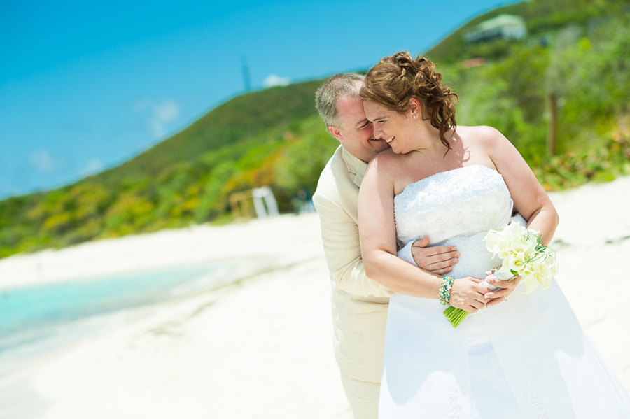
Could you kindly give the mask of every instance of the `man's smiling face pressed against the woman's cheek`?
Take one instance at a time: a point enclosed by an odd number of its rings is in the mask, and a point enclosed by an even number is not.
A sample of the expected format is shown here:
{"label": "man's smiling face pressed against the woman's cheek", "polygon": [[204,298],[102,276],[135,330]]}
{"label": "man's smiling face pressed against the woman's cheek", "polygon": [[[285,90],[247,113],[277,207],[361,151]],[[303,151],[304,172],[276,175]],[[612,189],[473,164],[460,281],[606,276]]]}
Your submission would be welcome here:
{"label": "man's smiling face pressed against the woman's cheek", "polygon": [[340,127],[328,127],[351,155],[369,162],[379,152],[389,148],[382,139],[374,138],[372,122],[365,117],[363,99],[342,97],[337,100],[337,111],[342,123]]}

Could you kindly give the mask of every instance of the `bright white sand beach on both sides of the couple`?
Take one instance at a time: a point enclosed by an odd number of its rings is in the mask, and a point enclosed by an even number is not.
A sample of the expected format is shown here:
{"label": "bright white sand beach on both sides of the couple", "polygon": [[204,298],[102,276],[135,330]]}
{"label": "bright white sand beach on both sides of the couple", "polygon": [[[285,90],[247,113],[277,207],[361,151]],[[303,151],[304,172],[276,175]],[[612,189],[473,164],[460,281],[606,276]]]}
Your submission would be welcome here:
{"label": "bright white sand beach on both sides of the couple", "polygon": [[[559,283],[630,390],[630,177],[551,197]],[[265,273],[113,315],[116,327],[0,378],[13,404],[0,418],[350,419],[315,213],[15,255],[0,260],[0,290],[235,257]]]}

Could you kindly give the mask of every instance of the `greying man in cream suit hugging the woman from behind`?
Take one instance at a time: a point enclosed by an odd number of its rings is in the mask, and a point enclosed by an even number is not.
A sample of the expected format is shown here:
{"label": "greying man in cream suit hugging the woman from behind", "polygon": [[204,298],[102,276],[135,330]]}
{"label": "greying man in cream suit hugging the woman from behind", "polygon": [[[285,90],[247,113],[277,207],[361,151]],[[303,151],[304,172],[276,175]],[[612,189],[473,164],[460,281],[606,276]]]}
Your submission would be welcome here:
{"label": "greying man in cream suit hugging the woman from behind", "polygon": [[[355,73],[337,74],[316,92],[317,111],[328,132],[341,145],[321,173],[313,202],[332,278],[335,358],[346,397],[354,419],[376,419],[385,323],[392,292],[365,276],[357,201],[367,162],[389,145],[374,138],[372,123],[365,118],[363,101],[359,98],[363,79]],[[452,271],[459,257],[456,248],[427,245],[428,237],[424,237],[421,242],[409,243],[398,255],[438,275]],[[505,296],[512,290],[494,294]]]}

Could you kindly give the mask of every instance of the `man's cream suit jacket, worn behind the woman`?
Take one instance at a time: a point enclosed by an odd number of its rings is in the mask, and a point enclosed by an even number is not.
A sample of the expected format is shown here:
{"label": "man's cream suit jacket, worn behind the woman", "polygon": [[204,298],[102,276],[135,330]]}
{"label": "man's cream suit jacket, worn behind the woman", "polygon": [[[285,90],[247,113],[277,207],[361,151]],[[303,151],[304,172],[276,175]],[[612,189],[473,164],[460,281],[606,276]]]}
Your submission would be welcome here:
{"label": "man's cream suit jacket, worn behind the woman", "polygon": [[358,192],[367,164],[339,146],[323,169],[313,203],[332,278],[335,358],[351,378],[380,383],[389,296],[363,270]]}

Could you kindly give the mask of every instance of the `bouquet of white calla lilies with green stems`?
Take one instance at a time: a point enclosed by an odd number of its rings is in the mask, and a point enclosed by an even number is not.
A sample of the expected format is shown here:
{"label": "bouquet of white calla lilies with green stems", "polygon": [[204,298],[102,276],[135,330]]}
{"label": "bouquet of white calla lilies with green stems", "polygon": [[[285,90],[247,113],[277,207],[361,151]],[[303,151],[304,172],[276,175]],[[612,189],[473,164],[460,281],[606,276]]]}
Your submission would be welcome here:
{"label": "bouquet of white calla lilies with green stems", "polygon": [[[497,288],[487,282],[489,278],[512,280],[520,275],[527,287],[525,294],[537,285],[544,290],[551,285],[551,278],[558,272],[556,253],[542,244],[542,235],[528,230],[517,222],[505,225],[486,234],[486,248],[502,260],[501,266],[486,277],[483,285],[494,291]],[[444,310],[453,327],[457,327],[468,315],[468,311],[450,306]]]}

